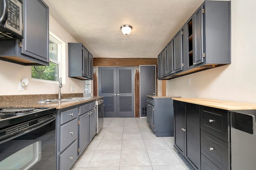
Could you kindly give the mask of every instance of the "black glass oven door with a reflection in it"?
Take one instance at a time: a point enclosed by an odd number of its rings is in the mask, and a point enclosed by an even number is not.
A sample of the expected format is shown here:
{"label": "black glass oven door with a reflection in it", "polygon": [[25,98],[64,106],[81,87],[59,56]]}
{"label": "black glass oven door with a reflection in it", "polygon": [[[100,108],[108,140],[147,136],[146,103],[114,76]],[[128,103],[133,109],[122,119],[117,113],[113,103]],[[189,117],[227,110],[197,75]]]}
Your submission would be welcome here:
{"label": "black glass oven door with a reflection in it", "polygon": [[56,169],[55,119],[0,144],[0,169]]}

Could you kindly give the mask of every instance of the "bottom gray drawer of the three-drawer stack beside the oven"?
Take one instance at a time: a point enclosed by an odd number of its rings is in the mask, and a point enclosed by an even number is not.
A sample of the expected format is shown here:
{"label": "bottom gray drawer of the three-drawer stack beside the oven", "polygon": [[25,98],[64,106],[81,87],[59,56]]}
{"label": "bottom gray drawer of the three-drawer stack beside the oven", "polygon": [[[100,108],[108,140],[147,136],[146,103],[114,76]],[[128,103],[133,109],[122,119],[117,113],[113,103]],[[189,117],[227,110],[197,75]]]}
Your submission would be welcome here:
{"label": "bottom gray drawer of the three-drawer stack beside the oven", "polygon": [[60,169],[70,170],[77,159],[77,140],[60,155]]}

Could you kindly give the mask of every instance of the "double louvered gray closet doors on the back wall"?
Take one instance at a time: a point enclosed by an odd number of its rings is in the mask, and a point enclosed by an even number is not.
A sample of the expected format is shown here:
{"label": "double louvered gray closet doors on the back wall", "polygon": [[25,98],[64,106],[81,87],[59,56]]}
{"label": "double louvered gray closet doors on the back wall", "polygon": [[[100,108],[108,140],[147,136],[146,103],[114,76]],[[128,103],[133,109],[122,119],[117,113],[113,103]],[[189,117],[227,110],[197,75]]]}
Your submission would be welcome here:
{"label": "double louvered gray closet doors on the back wall", "polygon": [[98,67],[104,117],[134,117],[134,67]]}

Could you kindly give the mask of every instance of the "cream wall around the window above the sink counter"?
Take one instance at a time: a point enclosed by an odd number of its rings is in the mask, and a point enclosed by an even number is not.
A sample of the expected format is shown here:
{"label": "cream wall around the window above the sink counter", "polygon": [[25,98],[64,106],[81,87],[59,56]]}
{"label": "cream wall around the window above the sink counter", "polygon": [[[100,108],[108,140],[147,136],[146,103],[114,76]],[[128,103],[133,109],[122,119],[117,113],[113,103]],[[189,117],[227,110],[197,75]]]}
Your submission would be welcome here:
{"label": "cream wall around the window above the sink counter", "polygon": [[[68,42],[77,42],[52,16],[50,16],[50,31],[65,43],[66,67],[62,68],[62,93],[83,93],[84,82],[68,77]],[[28,78],[29,84],[24,91],[18,90],[18,82]],[[75,91],[71,92],[71,86]],[[31,79],[31,66],[0,61],[0,95],[24,94],[58,94],[58,82],[37,81]]]}

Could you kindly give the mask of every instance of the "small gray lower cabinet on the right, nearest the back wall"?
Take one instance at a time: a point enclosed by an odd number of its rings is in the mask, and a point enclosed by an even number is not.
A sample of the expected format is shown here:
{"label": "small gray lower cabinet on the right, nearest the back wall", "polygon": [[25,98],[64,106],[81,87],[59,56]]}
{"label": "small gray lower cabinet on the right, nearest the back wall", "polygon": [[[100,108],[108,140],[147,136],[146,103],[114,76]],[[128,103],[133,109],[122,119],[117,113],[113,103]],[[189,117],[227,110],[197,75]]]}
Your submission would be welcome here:
{"label": "small gray lower cabinet on the right, nearest the back wall", "polygon": [[173,102],[171,98],[147,98],[147,121],[156,137],[173,136]]}

